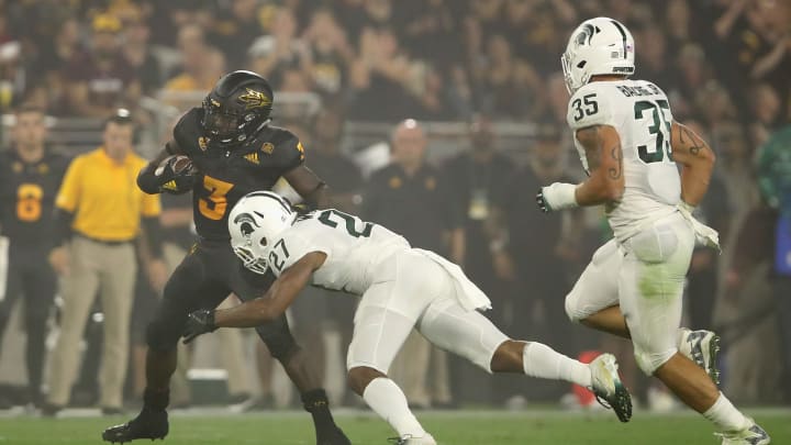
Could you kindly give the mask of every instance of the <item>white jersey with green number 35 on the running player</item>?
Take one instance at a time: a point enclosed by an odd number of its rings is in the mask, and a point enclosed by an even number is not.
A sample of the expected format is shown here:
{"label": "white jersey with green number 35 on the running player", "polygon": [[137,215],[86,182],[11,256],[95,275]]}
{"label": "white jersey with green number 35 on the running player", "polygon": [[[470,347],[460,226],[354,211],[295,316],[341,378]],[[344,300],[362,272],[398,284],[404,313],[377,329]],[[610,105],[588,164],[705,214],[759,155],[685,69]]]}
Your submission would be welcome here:
{"label": "white jersey with green number 35 on the running player", "polygon": [[[645,80],[591,82],[571,97],[567,121],[575,134],[592,125],[611,125],[621,137],[621,155],[614,147],[602,147],[603,156],[623,156],[624,194],[608,209],[617,240],[624,241],[646,223],[676,211],[681,181],[670,146],[672,114],[662,90]],[[575,145],[589,171],[577,137]]]}

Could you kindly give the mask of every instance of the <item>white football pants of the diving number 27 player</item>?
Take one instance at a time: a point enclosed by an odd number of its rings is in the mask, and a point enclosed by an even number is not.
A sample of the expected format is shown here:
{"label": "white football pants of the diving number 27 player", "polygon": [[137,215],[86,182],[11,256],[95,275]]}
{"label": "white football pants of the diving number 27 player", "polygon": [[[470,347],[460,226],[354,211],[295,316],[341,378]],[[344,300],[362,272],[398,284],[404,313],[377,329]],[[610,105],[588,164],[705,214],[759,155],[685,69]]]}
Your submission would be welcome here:
{"label": "white football pants of the diving number 27 player", "polygon": [[434,345],[491,372],[492,356],[508,336],[458,303],[450,275],[416,251],[388,262],[393,262],[393,279],[371,286],[355,313],[347,369],[366,366],[387,374],[414,326]]}

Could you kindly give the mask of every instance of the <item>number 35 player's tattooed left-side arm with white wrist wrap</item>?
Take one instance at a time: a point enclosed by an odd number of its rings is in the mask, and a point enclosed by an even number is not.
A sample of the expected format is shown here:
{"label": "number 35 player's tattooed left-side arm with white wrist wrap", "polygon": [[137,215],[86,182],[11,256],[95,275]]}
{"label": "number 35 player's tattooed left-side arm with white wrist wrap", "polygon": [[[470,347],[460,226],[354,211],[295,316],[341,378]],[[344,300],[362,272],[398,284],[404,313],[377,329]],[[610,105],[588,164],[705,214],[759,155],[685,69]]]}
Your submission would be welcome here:
{"label": "number 35 player's tattooed left-side arm with white wrist wrap", "polygon": [[617,131],[610,125],[593,125],[578,130],[576,136],[584,148],[590,176],[577,186],[555,182],[542,188],[536,201],[544,212],[611,204],[623,196],[623,153]]}

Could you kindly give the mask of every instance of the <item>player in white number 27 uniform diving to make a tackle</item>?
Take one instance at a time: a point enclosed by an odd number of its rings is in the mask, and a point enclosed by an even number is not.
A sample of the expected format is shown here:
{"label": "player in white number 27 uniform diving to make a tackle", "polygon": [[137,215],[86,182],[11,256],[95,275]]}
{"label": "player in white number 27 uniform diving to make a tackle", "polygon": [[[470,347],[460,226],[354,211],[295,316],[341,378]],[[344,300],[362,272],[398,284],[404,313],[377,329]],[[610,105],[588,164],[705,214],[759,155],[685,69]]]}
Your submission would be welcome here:
{"label": "player in white number 27 uniform diving to make a tackle", "polygon": [[308,285],[363,296],[347,355],[348,381],[398,432],[399,444],[436,444],[387,376],[413,327],[430,342],[488,372],[521,372],[591,388],[622,422],[632,401],[615,358],[586,365],[535,342],[510,340],[478,310],[490,301],[453,263],[412,248],[386,227],[337,210],[298,214],[280,196],[254,192],[229,216],[231,243],[245,267],[278,278],[264,298],[190,314],[186,341],[216,327],[256,326],[280,316]]}

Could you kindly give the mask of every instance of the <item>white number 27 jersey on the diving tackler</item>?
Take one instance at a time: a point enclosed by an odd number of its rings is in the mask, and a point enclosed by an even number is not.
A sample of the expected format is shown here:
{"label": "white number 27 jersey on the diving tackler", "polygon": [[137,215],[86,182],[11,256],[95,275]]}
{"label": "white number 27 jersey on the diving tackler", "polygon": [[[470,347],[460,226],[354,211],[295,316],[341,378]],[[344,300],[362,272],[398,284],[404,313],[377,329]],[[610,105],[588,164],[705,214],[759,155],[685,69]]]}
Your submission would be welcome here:
{"label": "white number 27 jersey on the diving tackler", "polygon": [[276,276],[311,252],[326,254],[313,274],[313,285],[363,294],[374,282],[390,278],[379,266],[392,254],[410,249],[409,242],[379,224],[335,209],[299,216],[266,251]]}

